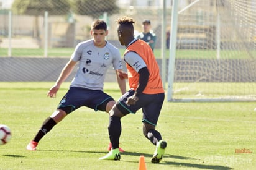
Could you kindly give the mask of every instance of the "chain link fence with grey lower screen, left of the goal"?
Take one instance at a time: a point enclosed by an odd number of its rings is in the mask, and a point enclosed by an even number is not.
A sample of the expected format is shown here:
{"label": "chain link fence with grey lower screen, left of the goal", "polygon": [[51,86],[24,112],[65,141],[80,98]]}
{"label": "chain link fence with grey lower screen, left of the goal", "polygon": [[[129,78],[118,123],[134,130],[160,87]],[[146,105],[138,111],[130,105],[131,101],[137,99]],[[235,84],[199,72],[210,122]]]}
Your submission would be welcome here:
{"label": "chain link fence with grey lower screen, left of the goal", "polygon": [[[140,2],[144,4],[137,6],[135,1],[117,0],[30,1],[30,4],[15,0],[11,9],[0,9],[0,81],[55,81],[75,46],[91,38],[91,23],[96,19],[106,21],[107,40],[121,53],[124,46],[117,38],[116,19],[123,15],[133,17],[137,33],[142,32],[142,21],[149,19],[157,35],[155,48],[160,51],[162,5],[155,2]],[[167,2],[169,24],[170,2]],[[116,80],[112,68],[106,80]]]}

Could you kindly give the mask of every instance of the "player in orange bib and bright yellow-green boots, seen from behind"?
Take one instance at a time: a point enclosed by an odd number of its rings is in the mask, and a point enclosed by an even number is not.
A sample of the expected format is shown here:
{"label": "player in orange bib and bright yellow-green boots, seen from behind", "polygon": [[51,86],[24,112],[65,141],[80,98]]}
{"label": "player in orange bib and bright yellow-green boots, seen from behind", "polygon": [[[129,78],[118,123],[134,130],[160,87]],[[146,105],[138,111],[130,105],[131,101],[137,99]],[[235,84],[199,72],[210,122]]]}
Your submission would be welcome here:
{"label": "player in orange bib and bright yellow-green boots, seen from behind", "polygon": [[[135,20],[130,17],[117,19],[117,34],[121,45],[126,46],[124,61],[130,89],[119,98],[109,111],[109,138],[112,150],[100,160],[120,160],[119,138],[121,117],[136,113],[142,108],[143,133],[156,145],[152,163],[159,163],[165,153],[167,142],[155,127],[162,109],[165,93],[160,78],[159,67],[153,51],[145,41],[134,38]],[[125,75],[123,75],[125,77]]]}

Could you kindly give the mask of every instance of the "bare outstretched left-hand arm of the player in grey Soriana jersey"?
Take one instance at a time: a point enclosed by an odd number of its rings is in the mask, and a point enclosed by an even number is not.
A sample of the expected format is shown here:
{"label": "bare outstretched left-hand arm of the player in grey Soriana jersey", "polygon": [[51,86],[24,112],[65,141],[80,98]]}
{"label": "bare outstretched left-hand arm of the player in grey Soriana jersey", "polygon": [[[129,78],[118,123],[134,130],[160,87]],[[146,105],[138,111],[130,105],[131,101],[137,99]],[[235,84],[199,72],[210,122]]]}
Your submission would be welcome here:
{"label": "bare outstretched left-hand arm of the player in grey Soriana jersey", "polygon": [[54,98],[57,94],[58,89],[60,88],[60,85],[68,78],[68,76],[73,71],[74,67],[76,65],[76,61],[73,61],[73,59],[70,59],[68,63],[66,63],[66,66],[62,69],[62,72],[60,73],[57,81],[55,82],[55,85],[53,85],[52,88],[48,91],[47,96],[50,96],[51,98]]}

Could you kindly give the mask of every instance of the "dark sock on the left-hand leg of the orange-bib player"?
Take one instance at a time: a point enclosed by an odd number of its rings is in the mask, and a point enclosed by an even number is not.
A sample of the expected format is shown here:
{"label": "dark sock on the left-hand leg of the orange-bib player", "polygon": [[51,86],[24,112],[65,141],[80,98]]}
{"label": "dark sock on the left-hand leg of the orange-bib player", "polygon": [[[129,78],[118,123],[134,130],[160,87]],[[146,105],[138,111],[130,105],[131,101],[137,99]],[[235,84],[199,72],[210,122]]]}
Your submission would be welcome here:
{"label": "dark sock on the left-hand leg of the orange-bib player", "polygon": [[112,149],[119,148],[119,138],[121,135],[122,127],[120,117],[110,116],[109,117],[109,139],[112,143]]}

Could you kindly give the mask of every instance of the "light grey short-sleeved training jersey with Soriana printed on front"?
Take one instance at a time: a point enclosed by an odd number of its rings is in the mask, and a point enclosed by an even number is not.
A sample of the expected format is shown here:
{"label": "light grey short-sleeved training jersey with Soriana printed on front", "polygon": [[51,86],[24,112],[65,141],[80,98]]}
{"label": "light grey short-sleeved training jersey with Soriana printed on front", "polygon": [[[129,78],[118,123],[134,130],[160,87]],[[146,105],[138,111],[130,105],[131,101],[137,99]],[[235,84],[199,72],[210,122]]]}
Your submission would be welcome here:
{"label": "light grey short-sleeved training jersey with Soriana printed on front", "polygon": [[103,90],[109,66],[122,69],[119,49],[107,41],[103,48],[94,46],[93,39],[83,41],[76,46],[71,59],[79,61],[79,66],[70,87]]}

